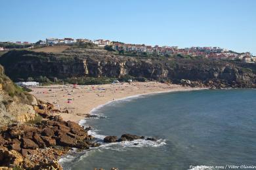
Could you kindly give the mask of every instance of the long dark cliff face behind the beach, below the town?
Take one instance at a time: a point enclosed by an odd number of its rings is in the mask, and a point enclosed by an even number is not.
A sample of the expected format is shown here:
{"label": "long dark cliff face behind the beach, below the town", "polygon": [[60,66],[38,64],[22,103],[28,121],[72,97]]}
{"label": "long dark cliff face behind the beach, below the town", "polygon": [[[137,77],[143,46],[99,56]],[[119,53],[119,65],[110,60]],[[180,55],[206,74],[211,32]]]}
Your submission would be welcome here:
{"label": "long dark cliff face behind the beach, below the town", "polygon": [[181,83],[184,79],[206,86],[238,88],[253,88],[256,82],[256,65],[208,59],[131,58],[104,50],[73,50],[65,54],[12,51],[3,55],[0,63],[7,69],[7,75],[14,79],[28,76],[118,78],[131,75],[174,83]]}

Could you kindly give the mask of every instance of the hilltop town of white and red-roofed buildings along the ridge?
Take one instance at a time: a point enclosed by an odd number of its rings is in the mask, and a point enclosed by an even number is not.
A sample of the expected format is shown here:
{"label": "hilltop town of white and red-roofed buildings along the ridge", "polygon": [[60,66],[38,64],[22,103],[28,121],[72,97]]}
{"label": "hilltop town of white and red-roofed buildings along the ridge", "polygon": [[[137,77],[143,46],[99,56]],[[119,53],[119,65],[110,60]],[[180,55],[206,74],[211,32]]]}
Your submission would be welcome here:
{"label": "hilltop town of white and red-roofed buildings along the ridge", "polygon": [[[106,50],[113,50],[119,52],[119,54],[127,54],[131,56],[134,54],[142,56],[181,56],[184,58],[208,58],[208,59],[223,59],[223,60],[234,60],[243,61],[245,63],[256,62],[256,57],[250,52],[234,52],[232,50],[226,50],[220,47],[190,47],[190,48],[179,48],[179,46],[150,46],[146,44],[128,44],[124,42],[109,41],[104,39],[89,40],[89,39],[54,39],[47,38],[45,41],[37,41],[35,43],[31,42],[0,42],[0,51],[9,50],[13,48],[19,49],[32,49],[43,47],[43,46],[58,46],[58,45],[71,45],[71,44],[81,44],[81,43],[93,43],[96,46],[105,48]],[[131,54],[131,55],[129,55]],[[136,56],[136,55],[135,55]]]}

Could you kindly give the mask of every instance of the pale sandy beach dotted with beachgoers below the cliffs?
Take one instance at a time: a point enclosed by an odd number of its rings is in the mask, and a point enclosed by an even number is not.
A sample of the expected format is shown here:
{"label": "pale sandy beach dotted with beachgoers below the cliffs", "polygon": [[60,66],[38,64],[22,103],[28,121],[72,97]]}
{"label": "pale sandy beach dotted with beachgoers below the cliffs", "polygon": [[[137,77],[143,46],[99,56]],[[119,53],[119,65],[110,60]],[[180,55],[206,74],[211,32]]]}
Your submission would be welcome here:
{"label": "pale sandy beach dotted with beachgoers below the cliffs", "polygon": [[61,113],[64,120],[79,122],[93,108],[116,99],[149,93],[200,90],[200,88],[160,82],[125,82],[87,86],[52,85],[32,88],[32,90],[31,93],[37,99],[53,103],[56,109],[68,110],[69,113]]}

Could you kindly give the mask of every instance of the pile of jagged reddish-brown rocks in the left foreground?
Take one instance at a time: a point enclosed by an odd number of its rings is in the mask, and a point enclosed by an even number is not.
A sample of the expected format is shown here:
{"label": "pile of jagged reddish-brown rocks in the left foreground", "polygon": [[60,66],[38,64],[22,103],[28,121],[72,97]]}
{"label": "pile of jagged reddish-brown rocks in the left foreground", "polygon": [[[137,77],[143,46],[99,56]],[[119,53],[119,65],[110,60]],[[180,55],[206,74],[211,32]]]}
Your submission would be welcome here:
{"label": "pile of jagged reddish-brown rocks in the left foreground", "polygon": [[37,124],[13,124],[0,130],[0,167],[62,169],[57,160],[70,148],[99,146],[83,127],[47,116]]}

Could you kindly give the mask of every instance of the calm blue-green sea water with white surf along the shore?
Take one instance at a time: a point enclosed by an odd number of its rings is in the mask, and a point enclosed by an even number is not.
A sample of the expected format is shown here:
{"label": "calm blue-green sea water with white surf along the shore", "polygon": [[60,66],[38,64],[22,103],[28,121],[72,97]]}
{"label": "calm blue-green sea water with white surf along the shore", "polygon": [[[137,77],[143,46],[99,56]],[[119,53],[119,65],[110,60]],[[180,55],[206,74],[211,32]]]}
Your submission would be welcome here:
{"label": "calm blue-green sea water with white surf along the shore", "polygon": [[[74,150],[64,169],[215,169],[256,165],[256,90],[140,95],[98,107],[80,122],[96,141],[123,133],[156,137]],[[136,144],[136,145],[135,145]],[[216,168],[217,169],[217,168]],[[228,169],[228,168],[226,168]]]}

